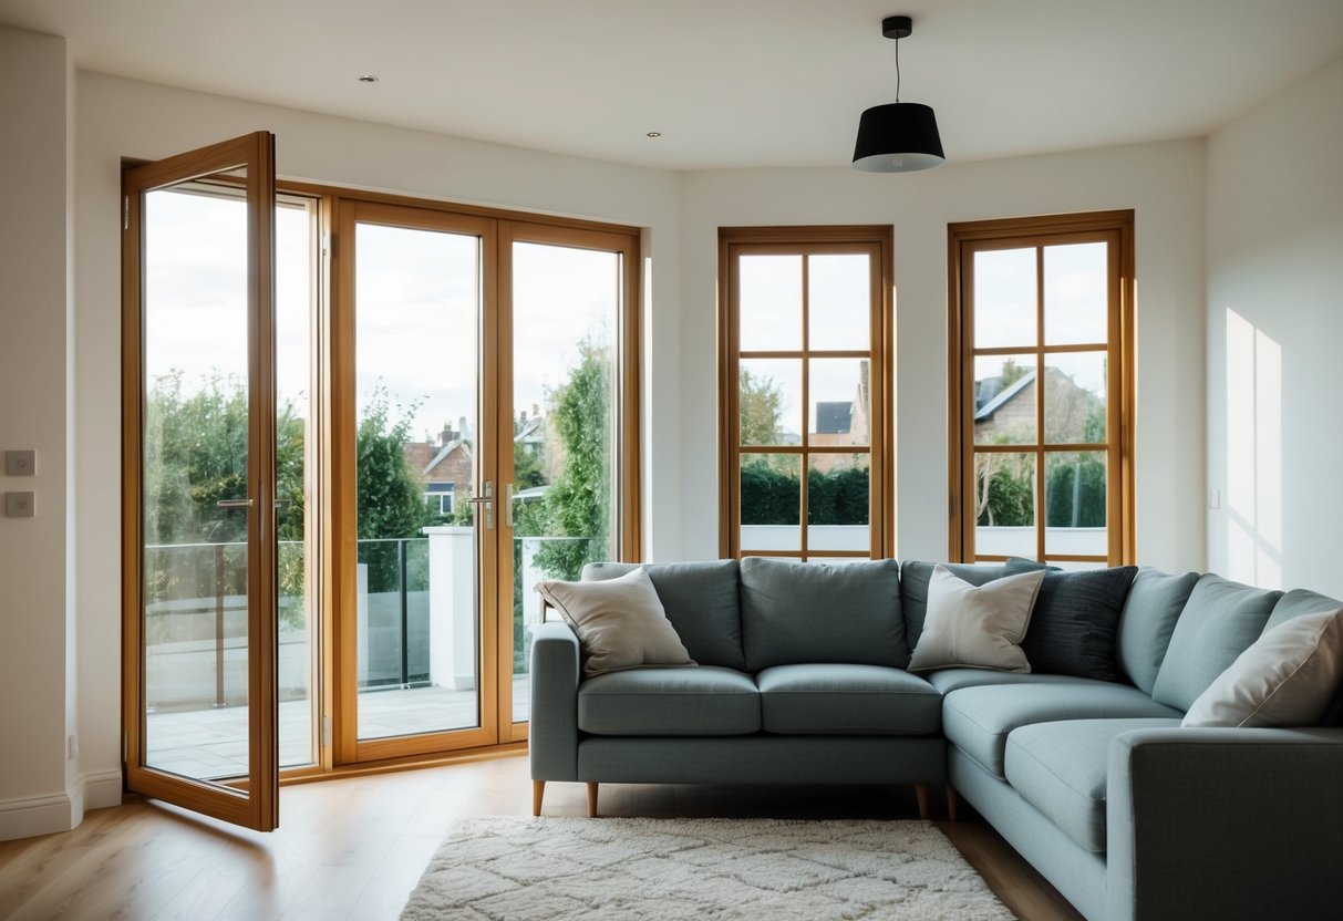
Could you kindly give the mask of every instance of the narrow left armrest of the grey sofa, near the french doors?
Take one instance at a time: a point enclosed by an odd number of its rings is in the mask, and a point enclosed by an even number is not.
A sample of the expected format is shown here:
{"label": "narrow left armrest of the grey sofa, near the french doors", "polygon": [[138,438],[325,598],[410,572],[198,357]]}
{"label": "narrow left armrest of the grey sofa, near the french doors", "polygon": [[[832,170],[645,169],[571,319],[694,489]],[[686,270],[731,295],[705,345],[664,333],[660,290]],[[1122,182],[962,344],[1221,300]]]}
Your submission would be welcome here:
{"label": "narrow left armrest of the grey sofa, near the french doors", "polygon": [[552,620],[532,634],[532,780],[579,779],[579,638]]}

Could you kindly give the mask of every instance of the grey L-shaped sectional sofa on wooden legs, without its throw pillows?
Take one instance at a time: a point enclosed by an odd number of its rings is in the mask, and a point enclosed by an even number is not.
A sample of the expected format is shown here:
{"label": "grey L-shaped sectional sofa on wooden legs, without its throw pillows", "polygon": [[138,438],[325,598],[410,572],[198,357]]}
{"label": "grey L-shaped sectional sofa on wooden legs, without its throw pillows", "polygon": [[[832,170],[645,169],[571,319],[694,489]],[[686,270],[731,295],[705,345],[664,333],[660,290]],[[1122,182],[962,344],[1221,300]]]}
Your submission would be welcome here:
{"label": "grey L-shaped sectional sofa on wooden legs, without its throw pillows", "polygon": [[[971,803],[1093,921],[1343,916],[1339,701],[1313,728],[1180,726],[1261,632],[1340,601],[1143,569],[1107,639],[1115,681],[915,675],[933,564],[645,569],[700,665],[583,681],[573,631],[543,624],[537,814],[545,781],[587,783],[592,814],[600,783],[833,783],[913,784],[927,818],[945,784],[952,818]],[[948,569],[975,585],[1010,572]]]}

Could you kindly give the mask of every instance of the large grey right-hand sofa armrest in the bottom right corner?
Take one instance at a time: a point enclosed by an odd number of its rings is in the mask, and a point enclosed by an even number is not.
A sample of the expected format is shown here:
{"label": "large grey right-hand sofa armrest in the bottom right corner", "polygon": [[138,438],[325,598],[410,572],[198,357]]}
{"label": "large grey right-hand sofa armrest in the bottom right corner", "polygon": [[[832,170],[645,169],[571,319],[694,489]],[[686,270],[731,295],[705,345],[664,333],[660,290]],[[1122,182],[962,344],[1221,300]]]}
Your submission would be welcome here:
{"label": "large grey right-hand sofa armrest in the bottom right corner", "polygon": [[1343,729],[1139,729],[1108,771],[1111,921],[1338,912]]}

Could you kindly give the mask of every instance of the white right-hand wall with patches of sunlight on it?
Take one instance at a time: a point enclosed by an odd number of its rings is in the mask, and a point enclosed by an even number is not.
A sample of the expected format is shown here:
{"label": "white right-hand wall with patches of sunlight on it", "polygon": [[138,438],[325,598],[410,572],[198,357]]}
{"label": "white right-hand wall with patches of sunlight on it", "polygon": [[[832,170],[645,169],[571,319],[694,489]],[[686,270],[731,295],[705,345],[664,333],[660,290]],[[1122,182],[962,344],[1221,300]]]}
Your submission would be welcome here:
{"label": "white right-hand wall with patches of sunlight on it", "polygon": [[1209,567],[1343,597],[1343,59],[1207,142]]}

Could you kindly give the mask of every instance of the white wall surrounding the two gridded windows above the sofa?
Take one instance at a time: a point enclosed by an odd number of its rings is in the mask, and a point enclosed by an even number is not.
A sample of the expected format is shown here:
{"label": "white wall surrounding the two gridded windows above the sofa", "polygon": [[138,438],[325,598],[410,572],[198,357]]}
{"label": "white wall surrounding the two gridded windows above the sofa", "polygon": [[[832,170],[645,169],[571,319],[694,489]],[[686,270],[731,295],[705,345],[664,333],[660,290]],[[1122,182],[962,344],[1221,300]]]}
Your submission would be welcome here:
{"label": "white wall surrounding the two gridded windows above the sofa", "polygon": [[[954,146],[954,138],[947,138]],[[682,211],[682,550],[717,554],[717,228],[892,224],[897,554],[947,556],[947,224],[1133,208],[1138,557],[1203,565],[1203,145],[1154,144],[882,176],[835,169],[689,173]]]}

